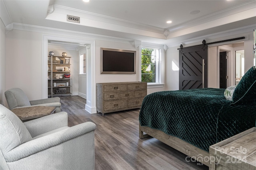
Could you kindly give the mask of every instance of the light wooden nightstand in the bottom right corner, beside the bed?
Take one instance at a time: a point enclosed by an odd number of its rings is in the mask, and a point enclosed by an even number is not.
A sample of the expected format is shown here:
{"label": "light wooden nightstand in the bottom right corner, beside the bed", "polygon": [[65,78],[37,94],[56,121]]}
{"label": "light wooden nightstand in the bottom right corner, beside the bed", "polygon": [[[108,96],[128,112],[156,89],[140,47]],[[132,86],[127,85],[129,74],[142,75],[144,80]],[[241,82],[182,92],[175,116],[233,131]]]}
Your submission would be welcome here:
{"label": "light wooden nightstand in the bottom right corner, beside the bed", "polygon": [[210,146],[209,170],[256,170],[256,127]]}

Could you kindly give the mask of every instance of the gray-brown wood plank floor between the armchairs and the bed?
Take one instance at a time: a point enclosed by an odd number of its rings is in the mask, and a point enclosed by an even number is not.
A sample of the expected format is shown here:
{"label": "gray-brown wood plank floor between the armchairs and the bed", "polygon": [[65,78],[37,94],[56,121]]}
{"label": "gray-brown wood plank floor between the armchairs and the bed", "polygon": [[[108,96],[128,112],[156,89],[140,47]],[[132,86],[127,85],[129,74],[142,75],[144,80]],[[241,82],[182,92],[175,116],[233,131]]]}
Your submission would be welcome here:
{"label": "gray-brown wood plank floor between the armchairs and the bed", "polygon": [[[84,110],[86,99],[61,97],[62,111],[68,113],[68,125],[86,121],[95,130],[95,170],[208,170],[168,145],[147,137],[139,138],[140,109],[90,114]],[[188,161],[186,161],[188,160]]]}

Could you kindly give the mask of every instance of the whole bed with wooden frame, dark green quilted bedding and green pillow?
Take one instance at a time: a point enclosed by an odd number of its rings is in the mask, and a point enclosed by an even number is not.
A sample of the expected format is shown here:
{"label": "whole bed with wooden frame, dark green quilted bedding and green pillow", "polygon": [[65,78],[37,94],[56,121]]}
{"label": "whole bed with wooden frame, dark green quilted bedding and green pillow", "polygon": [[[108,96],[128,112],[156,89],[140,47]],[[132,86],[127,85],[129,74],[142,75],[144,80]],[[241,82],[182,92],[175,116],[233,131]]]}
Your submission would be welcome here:
{"label": "whole bed with wooden frame, dark green quilted bedding and green pillow", "polygon": [[149,94],[139,122],[140,138],[150,135],[210,167],[211,145],[255,127],[256,70],[251,68],[237,86],[227,89]]}

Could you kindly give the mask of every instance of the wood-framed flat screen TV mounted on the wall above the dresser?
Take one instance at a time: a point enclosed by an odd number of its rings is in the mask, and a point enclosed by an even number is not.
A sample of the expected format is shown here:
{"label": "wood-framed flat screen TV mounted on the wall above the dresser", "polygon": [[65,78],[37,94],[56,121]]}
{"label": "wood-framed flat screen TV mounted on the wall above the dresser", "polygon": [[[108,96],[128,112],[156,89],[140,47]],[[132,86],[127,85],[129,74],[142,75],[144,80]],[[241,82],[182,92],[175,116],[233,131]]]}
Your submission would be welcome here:
{"label": "wood-framed flat screen TV mounted on the wall above the dresser", "polygon": [[136,51],[100,48],[101,74],[136,74]]}

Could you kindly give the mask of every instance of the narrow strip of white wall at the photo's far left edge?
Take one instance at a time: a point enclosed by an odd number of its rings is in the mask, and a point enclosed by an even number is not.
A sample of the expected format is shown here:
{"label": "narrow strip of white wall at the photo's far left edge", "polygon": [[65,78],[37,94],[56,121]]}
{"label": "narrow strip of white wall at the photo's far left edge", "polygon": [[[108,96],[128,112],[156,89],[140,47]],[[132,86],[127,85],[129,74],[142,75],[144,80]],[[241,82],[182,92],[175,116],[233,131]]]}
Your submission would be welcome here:
{"label": "narrow strip of white wall at the photo's far left edge", "polygon": [[5,26],[0,20],[0,104],[6,105],[4,92],[6,91],[6,44]]}

